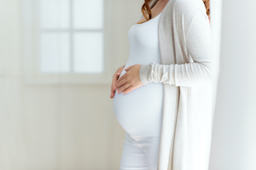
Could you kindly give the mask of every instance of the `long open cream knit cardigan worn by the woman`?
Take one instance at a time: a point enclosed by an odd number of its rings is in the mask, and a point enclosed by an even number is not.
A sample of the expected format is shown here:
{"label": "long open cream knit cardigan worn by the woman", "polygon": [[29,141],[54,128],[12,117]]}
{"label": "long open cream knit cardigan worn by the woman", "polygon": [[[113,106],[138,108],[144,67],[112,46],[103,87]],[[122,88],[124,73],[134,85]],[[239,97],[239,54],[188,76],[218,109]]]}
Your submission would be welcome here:
{"label": "long open cream knit cardigan worn by the woman", "polygon": [[211,26],[204,3],[169,0],[158,28],[161,63],[142,65],[139,71],[143,85],[164,85],[158,170],[207,170],[212,78]]}

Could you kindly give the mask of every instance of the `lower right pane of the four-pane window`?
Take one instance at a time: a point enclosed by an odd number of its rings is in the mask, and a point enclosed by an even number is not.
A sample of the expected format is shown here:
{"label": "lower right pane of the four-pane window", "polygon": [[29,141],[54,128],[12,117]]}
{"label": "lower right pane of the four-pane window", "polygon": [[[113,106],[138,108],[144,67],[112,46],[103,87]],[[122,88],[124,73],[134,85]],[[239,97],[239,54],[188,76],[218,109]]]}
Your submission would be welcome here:
{"label": "lower right pane of the four-pane window", "polygon": [[79,32],[75,33],[73,38],[74,72],[103,72],[102,32]]}

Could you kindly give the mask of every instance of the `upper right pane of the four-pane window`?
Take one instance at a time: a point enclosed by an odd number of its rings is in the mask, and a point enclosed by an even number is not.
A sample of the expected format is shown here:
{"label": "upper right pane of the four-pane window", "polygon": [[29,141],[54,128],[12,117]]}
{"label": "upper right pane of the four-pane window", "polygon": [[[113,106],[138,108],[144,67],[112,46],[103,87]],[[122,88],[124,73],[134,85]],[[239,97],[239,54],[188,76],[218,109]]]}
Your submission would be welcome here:
{"label": "upper right pane of the four-pane window", "polygon": [[103,0],[73,0],[75,29],[102,29]]}

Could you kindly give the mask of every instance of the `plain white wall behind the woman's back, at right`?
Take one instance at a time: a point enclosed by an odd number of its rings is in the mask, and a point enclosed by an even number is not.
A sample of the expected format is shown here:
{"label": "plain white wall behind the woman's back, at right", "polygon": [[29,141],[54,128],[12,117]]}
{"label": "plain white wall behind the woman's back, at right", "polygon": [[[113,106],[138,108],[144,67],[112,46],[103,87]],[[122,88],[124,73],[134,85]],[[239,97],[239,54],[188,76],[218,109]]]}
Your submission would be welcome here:
{"label": "plain white wall behind the woman's back, at right", "polygon": [[223,1],[211,170],[256,169],[256,1]]}

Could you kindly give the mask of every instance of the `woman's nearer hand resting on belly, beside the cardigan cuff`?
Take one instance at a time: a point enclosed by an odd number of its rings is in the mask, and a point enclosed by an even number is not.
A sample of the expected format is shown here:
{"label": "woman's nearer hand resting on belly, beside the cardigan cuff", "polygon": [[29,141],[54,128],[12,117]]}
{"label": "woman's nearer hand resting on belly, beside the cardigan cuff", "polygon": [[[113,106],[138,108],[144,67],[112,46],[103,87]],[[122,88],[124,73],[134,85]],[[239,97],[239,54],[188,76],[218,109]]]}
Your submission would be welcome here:
{"label": "woman's nearer hand resting on belly, beside the cardigan cuff", "polygon": [[119,88],[116,91],[117,93],[123,92],[123,94],[128,94],[132,90],[143,86],[139,77],[140,67],[141,65],[137,64],[125,69],[127,72],[116,81],[115,86]]}

